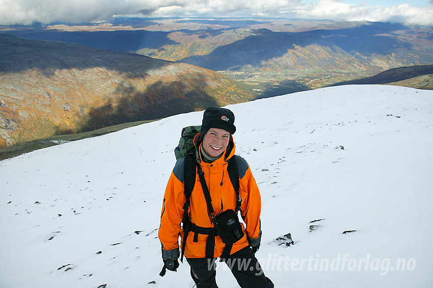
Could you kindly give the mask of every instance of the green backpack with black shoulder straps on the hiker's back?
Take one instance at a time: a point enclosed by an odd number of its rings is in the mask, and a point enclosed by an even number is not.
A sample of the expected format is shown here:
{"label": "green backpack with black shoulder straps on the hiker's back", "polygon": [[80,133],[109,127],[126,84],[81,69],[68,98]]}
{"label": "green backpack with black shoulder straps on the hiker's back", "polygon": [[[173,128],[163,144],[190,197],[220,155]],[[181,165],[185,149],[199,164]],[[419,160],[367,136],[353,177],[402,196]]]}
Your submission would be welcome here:
{"label": "green backpack with black shoulder straps on the hiker's back", "polygon": [[[183,192],[185,194],[185,203],[183,205],[183,239],[182,239],[182,253],[180,257],[180,261],[183,260],[183,252],[185,250],[186,245],[186,237],[188,233],[191,231],[193,223],[191,223],[188,208],[190,207],[190,196],[194,189],[194,184],[196,183],[196,167],[197,161],[195,159],[195,145],[194,145],[194,137],[200,133],[201,126],[187,126],[182,129],[181,137],[179,139],[179,145],[174,149],[174,154],[176,156],[176,160],[181,158],[185,158],[184,166],[183,166]],[[239,173],[237,171],[236,159],[235,157],[231,157],[228,160],[227,171],[229,174],[230,181],[233,185],[234,190],[236,191],[236,208],[235,212],[240,210],[242,199],[239,196]],[[186,236],[186,237],[185,237]],[[213,251],[213,248],[212,248]],[[213,252],[212,252],[213,255]]]}

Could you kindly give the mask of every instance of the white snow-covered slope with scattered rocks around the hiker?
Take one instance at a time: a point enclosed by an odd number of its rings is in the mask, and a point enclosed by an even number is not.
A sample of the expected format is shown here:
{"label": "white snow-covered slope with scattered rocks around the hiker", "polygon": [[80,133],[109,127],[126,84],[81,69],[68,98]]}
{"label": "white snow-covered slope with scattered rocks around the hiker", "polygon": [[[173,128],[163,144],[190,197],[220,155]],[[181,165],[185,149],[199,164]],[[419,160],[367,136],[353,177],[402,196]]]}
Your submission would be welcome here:
{"label": "white snow-covered slope with scattered rocks around the hiker", "polygon": [[[433,286],[432,91],[347,85],[227,107],[276,287]],[[180,130],[202,115],[1,161],[0,287],[192,287],[186,262],[158,275],[157,229]],[[238,286],[221,263],[217,282]]]}

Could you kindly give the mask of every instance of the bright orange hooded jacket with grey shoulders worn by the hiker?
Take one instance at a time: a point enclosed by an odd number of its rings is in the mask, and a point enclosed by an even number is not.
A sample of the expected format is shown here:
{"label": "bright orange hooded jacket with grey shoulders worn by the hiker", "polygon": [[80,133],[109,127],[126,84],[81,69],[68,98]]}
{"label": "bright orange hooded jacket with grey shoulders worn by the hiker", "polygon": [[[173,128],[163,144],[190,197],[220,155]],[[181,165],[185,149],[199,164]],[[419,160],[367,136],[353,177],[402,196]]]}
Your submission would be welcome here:
{"label": "bright orange hooded jacket with grey shoulders worn by the hiker", "polygon": [[[196,136],[197,137],[197,136]],[[201,145],[201,144],[200,144]],[[231,146],[231,147],[230,147]],[[261,200],[256,181],[251,173],[250,166],[240,156],[234,156],[235,146],[233,141],[226,149],[224,155],[213,161],[205,163],[200,161],[206,184],[209,188],[212,199],[212,207],[215,214],[226,210],[235,210],[236,192],[230,181],[227,172],[227,159],[236,157],[236,163],[239,172],[239,196],[242,199],[240,214],[246,227],[242,224],[244,236],[242,239],[233,244],[231,253],[234,253],[248,246],[247,236],[251,239],[260,237],[260,210]],[[200,151],[200,149],[198,149]],[[178,239],[182,237],[183,229],[180,226],[183,216],[183,204],[185,195],[183,193],[183,163],[184,158],[179,159],[171,173],[164,194],[163,209],[161,211],[161,223],[159,226],[158,237],[163,246],[163,250],[172,250],[179,247]],[[208,216],[206,200],[203,189],[198,182],[196,175],[196,184],[190,196],[190,218],[191,222],[201,227],[213,227],[211,218]],[[198,242],[193,242],[193,232],[188,234],[184,255],[186,258],[205,257],[207,235],[198,235]],[[215,237],[214,257],[219,257],[224,249],[225,244],[219,236]]]}

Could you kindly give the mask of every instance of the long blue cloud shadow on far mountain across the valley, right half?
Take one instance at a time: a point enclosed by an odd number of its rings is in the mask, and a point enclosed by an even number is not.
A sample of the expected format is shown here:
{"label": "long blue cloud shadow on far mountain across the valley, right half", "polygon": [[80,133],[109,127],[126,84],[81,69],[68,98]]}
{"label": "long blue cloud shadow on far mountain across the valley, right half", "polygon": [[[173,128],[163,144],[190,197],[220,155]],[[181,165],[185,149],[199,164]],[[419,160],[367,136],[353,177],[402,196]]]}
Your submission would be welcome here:
{"label": "long blue cloud shadow on far mountain across the valley, right half", "polygon": [[[383,25],[384,28],[378,25]],[[339,47],[351,54],[390,54],[400,48],[411,48],[409,43],[384,35],[403,28],[404,25],[391,24],[308,32],[273,32],[263,28],[254,30],[255,35],[220,46],[207,55],[186,57],[178,62],[211,70],[236,71],[246,66],[259,68],[262,63],[281,57],[296,46],[306,47],[312,44],[332,49]]]}

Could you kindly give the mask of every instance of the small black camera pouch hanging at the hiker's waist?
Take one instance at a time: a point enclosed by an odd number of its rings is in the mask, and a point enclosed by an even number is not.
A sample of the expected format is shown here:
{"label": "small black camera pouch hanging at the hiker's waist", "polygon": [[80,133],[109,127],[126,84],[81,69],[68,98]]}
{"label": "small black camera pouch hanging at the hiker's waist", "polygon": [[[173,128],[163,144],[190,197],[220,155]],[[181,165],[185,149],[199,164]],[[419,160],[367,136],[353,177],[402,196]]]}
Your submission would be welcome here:
{"label": "small black camera pouch hanging at the hiker's waist", "polygon": [[242,226],[233,210],[226,210],[214,219],[215,228],[224,244],[233,244],[243,237]]}

